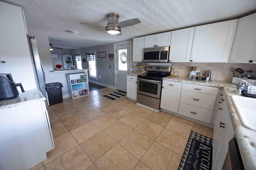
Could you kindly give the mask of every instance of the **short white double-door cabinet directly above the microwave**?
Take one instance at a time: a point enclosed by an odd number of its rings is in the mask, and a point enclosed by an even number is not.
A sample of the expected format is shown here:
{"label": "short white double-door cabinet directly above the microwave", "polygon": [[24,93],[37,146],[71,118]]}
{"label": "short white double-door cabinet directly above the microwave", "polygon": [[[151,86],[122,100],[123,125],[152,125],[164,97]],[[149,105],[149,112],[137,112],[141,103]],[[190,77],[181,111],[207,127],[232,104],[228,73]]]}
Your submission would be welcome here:
{"label": "short white double-door cabinet directly above the microwave", "polygon": [[145,36],[145,48],[170,46],[171,31]]}

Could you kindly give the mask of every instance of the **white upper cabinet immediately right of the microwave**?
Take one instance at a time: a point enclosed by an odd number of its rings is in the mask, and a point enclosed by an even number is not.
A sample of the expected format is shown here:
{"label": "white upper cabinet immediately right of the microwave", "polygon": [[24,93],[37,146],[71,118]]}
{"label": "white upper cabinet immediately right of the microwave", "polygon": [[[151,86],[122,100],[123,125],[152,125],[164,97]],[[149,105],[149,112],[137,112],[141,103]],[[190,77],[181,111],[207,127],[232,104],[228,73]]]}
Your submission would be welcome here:
{"label": "white upper cabinet immediately right of the microwave", "polygon": [[170,56],[171,62],[190,62],[195,27],[172,31]]}

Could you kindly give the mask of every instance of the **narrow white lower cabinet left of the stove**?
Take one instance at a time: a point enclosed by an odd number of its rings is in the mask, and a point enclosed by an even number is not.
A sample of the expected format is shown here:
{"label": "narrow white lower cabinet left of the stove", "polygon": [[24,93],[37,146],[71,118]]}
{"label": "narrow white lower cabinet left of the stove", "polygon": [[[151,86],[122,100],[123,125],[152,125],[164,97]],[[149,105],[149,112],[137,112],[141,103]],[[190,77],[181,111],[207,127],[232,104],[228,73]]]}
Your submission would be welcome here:
{"label": "narrow white lower cabinet left of the stove", "polygon": [[127,76],[127,97],[137,100],[137,76]]}

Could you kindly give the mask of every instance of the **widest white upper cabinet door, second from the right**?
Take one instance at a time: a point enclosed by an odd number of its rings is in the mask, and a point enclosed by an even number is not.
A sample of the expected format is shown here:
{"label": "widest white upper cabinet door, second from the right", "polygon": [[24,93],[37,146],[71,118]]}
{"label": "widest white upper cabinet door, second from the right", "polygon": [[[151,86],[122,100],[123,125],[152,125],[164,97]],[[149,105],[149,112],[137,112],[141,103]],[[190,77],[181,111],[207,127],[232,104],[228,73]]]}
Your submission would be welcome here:
{"label": "widest white upper cabinet door, second from the right", "polygon": [[191,62],[228,63],[238,20],[195,28]]}

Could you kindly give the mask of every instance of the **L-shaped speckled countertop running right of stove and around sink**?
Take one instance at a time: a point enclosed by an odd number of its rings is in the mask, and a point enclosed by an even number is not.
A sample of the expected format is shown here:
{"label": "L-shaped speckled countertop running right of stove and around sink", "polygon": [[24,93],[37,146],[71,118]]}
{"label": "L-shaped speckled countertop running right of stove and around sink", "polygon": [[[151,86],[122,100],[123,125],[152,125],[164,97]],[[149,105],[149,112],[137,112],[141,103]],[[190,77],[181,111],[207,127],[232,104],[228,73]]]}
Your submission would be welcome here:
{"label": "L-shaped speckled countertop running right of stove and around sink", "polygon": [[[236,135],[238,147],[246,170],[256,169],[256,131],[250,130],[244,127],[240,121],[236,107],[233,104],[231,95],[238,95],[236,93],[236,84],[230,84],[229,82],[213,80],[212,82],[205,82],[200,80],[189,80],[184,77],[167,76],[163,80],[198,84],[204,86],[224,88],[226,93],[226,101],[228,105],[228,111],[232,122],[232,127]],[[255,99],[256,101],[256,99]]]}

